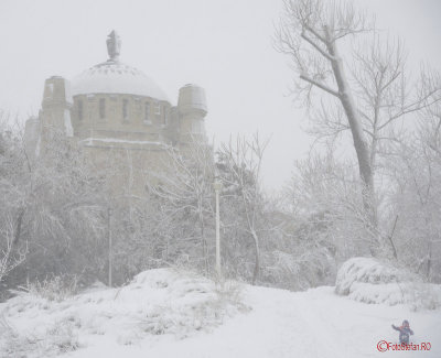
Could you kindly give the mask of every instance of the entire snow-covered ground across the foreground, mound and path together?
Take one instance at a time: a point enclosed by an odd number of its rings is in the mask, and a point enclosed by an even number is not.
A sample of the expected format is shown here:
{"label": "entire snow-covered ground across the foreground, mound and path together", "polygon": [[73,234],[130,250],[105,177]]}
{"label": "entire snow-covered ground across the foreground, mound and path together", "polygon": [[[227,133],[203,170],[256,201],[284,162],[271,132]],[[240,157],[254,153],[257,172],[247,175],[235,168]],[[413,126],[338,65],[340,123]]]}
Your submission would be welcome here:
{"label": "entire snow-covered ground across the foreground, mound and path together", "polygon": [[[441,310],[361,303],[331,286],[240,293],[171,270],[63,302],[22,295],[0,304],[0,315],[1,357],[441,357]],[[379,352],[378,341],[397,343],[390,325],[405,318],[412,341],[430,343],[430,351]]]}

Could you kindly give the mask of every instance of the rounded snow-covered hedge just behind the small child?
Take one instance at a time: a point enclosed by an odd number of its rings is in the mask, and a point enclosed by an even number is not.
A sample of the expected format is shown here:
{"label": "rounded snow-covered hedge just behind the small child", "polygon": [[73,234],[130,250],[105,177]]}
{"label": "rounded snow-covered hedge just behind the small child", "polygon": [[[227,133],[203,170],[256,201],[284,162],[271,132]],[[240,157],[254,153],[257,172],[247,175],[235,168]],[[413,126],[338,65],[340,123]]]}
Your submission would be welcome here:
{"label": "rounded snow-covered hedge just behind the small child", "polygon": [[421,282],[373,258],[353,258],[337,272],[335,292],[364,303],[409,304],[413,310],[441,306],[441,286]]}

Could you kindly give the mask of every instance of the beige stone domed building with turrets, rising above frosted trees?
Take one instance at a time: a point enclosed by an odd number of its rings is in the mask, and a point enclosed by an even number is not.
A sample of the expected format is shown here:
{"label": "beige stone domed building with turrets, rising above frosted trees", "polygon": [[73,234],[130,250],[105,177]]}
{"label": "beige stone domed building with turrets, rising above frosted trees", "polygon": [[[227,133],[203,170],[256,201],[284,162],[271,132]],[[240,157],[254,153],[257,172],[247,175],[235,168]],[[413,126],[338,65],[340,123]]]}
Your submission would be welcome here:
{"label": "beige stone domed building with turrets, rising above frosted trees", "polygon": [[93,160],[104,163],[120,156],[125,158],[120,165],[130,161],[127,165],[137,171],[157,166],[170,145],[205,140],[204,89],[185,85],[174,106],[152,78],[119,61],[120,48],[112,31],[106,62],[71,80],[60,76],[45,80],[39,118],[29,119],[25,127],[31,156],[39,156],[51,129],[78,140]]}

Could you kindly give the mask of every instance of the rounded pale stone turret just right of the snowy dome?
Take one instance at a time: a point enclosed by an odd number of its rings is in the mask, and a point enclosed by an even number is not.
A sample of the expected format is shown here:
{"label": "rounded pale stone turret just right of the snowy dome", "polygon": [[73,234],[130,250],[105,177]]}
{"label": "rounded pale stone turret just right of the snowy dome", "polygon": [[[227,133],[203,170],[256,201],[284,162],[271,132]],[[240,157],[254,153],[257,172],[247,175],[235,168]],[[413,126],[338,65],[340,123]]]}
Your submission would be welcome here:
{"label": "rounded pale stone turret just right of the snowy dome", "polygon": [[207,113],[205,90],[196,85],[185,85],[180,89],[178,100],[180,117],[180,142],[205,139],[204,118]]}

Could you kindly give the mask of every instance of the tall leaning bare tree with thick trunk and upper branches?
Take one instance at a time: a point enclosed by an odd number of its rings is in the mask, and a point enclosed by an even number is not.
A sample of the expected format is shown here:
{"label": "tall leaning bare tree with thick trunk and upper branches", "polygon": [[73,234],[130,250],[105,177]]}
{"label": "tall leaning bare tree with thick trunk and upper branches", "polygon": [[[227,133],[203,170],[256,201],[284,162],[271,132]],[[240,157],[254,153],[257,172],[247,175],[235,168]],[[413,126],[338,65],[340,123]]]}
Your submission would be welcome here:
{"label": "tall leaning bare tree with thick trunk and upper branches", "polygon": [[291,56],[306,84],[299,84],[298,89],[309,96],[312,88],[319,88],[341,102],[353,135],[361,176],[366,187],[372,188],[368,144],[337,47],[340,40],[366,31],[366,19],[347,3],[320,0],[287,0],[284,10],[277,34],[278,47]]}

